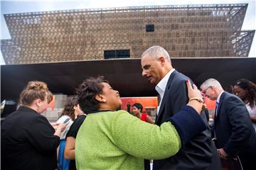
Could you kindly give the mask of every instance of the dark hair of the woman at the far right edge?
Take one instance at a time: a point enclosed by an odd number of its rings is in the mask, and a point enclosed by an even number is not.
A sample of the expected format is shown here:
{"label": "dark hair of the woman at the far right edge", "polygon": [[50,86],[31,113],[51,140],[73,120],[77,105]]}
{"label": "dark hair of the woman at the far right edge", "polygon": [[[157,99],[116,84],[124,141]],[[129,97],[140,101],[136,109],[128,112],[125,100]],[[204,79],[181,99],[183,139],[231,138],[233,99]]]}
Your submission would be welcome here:
{"label": "dark hair of the woman at the far right edge", "polygon": [[256,84],[247,79],[240,79],[235,83],[235,86],[239,86],[241,89],[247,90],[245,101],[248,101],[252,108],[256,103]]}

